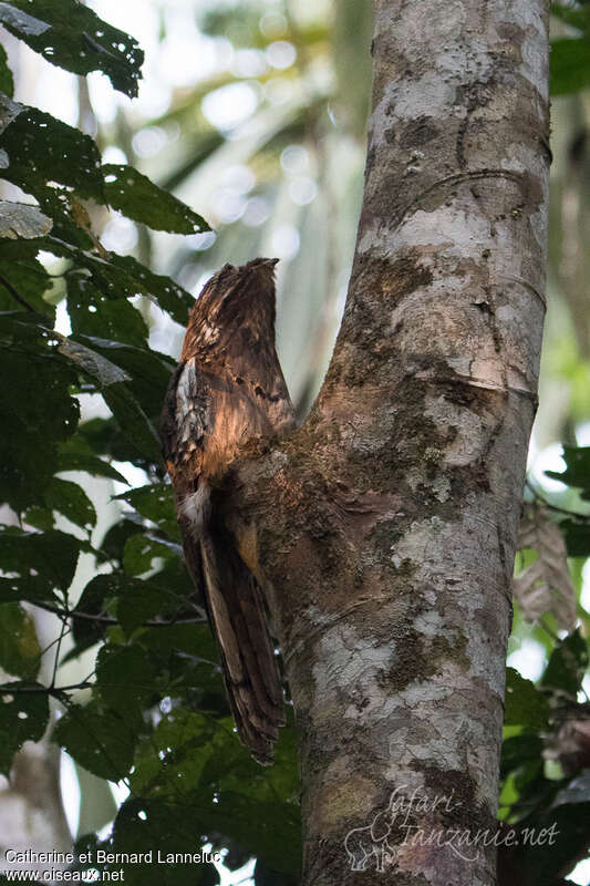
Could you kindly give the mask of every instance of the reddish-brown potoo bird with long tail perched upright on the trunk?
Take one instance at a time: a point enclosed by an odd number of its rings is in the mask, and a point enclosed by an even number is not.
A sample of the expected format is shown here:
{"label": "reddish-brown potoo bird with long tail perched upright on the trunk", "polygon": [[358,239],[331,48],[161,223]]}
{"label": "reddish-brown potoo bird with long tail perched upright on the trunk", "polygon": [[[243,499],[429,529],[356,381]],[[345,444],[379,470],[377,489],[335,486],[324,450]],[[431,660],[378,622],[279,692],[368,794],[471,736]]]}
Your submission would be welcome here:
{"label": "reddish-brown potoo bird with long tail perched upright on the trunk", "polygon": [[206,284],[190,311],[161,425],[186,563],[206,601],[238,734],[260,763],[271,762],[284,723],[282,687],[256,538],[251,527],[228,519],[227,481],[246,444],[294,424],[275,350],[277,261],[225,265]]}

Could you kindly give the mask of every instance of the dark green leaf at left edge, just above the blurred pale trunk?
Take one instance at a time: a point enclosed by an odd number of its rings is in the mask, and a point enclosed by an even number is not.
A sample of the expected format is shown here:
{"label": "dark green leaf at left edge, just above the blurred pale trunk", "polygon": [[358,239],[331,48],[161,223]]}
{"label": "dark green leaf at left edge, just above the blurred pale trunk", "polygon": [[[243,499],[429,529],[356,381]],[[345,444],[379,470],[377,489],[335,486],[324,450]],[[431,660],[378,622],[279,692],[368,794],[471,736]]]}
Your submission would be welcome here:
{"label": "dark green leaf at left edge, just above the blurred pale trunk", "polygon": [[0,772],[8,775],[12,759],[24,742],[43,738],[49,721],[49,702],[39,683],[4,683],[1,689]]}

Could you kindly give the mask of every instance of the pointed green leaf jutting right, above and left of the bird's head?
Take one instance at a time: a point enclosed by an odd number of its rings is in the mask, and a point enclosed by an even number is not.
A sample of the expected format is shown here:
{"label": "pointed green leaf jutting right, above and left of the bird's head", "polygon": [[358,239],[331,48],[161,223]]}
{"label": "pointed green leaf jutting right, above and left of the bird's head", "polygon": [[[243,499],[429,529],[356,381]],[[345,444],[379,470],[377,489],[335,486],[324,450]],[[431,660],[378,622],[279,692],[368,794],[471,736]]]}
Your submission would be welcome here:
{"label": "pointed green leaf jutting right, above and left of the bird's head", "polygon": [[133,166],[103,166],[106,202],[127,218],[154,230],[199,234],[210,230],[204,218],[186,204],[163,190]]}

